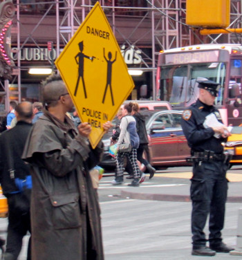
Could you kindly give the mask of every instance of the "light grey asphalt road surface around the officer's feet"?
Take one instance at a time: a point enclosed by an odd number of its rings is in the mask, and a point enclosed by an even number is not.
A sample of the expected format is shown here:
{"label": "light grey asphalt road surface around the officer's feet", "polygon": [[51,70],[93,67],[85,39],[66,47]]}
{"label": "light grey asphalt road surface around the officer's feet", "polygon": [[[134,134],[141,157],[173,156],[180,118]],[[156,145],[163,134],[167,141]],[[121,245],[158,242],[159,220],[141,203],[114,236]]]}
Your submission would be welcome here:
{"label": "light grey asphalt road surface around the officer's feet", "polygon": [[[158,171],[154,178],[141,187],[128,187],[125,180],[121,187],[111,185],[111,174],[104,176],[98,190],[102,211],[102,232],[106,260],[192,260],[204,259],[191,255],[190,214],[191,203],[153,201],[123,198],[122,190],[164,190],[185,187],[189,189],[191,167],[175,167]],[[149,176],[149,174],[147,174]],[[232,185],[242,185],[242,167],[230,169]],[[232,186],[233,187],[233,186]],[[241,189],[240,189],[241,191]],[[239,191],[239,192],[240,192]],[[241,194],[242,195],[242,194]],[[223,239],[237,246],[238,214],[241,203],[227,203]],[[6,236],[7,219],[0,219],[0,235]],[[206,234],[207,227],[205,229]],[[26,259],[26,243],[19,260]],[[242,260],[239,256],[216,254],[213,259]],[[71,259],[72,260],[72,259]],[[92,260],[92,259],[90,259]]]}

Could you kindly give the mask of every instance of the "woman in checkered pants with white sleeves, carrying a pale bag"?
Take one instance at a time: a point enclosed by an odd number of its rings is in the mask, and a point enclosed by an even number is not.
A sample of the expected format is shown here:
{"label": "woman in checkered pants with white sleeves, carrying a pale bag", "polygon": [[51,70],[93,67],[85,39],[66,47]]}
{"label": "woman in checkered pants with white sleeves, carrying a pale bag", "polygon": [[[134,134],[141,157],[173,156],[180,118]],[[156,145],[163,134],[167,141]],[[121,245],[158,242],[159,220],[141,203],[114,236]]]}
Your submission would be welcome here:
{"label": "woman in checkered pants with white sleeves, carrying a pale bag", "polygon": [[[113,185],[120,185],[124,182],[124,156],[131,162],[133,171],[133,180],[129,186],[140,185],[140,168],[137,163],[137,148],[140,142],[136,131],[136,120],[131,115],[132,104],[124,104],[122,109],[123,116],[120,123],[120,136],[118,138],[118,154],[116,156],[117,174],[115,179],[111,181]],[[122,151],[122,145],[130,147],[129,151]]]}

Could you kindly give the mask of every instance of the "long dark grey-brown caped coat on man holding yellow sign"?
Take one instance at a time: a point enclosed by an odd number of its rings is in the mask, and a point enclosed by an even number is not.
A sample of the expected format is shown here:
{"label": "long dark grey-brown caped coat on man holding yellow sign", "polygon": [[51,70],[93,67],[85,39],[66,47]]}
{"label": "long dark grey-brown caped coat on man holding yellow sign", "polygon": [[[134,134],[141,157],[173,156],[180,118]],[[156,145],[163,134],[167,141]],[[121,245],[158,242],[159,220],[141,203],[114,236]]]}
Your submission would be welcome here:
{"label": "long dark grey-brown caped coat on man holding yellow sign", "polygon": [[31,165],[32,260],[102,260],[100,207],[87,168],[100,160],[66,124],[46,112],[35,123],[23,158]]}

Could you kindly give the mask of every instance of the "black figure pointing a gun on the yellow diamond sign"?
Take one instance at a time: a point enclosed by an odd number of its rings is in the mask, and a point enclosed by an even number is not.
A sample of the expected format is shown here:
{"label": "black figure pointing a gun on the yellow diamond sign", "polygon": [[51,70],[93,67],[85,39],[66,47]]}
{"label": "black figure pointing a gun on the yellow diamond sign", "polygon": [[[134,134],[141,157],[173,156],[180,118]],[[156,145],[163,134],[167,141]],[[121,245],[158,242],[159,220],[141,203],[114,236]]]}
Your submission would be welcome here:
{"label": "black figure pointing a gun on the yellow diamond sign", "polygon": [[83,49],[84,49],[83,41],[80,41],[80,43],[78,45],[79,45],[79,48],[80,48],[80,53],[77,53],[77,55],[75,55],[75,62],[77,62],[77,64],[78,64],[78,79],[77,79],[77,84],[75,86],[74,95],[77,95],[77,89],[78,89],[78,85],[79,85],[79,82],[80,82],[80,77],[82,77],[82,86],[83,86],[84,95],[85,95],[85,98],[86,98],[87,97],[86,86],[85,86],[85,82],[84,82],[84,58],[91,59],[91,61],[93,61],[93,59],[95,57],[89,57],[89,56],[87,56],[83,53]]}

